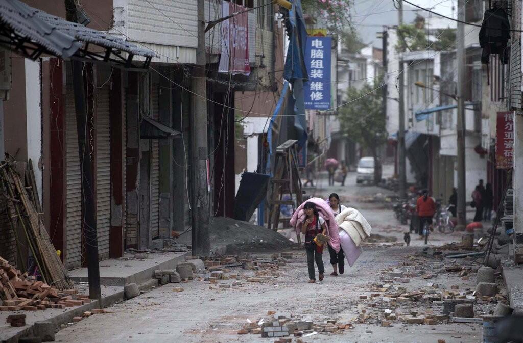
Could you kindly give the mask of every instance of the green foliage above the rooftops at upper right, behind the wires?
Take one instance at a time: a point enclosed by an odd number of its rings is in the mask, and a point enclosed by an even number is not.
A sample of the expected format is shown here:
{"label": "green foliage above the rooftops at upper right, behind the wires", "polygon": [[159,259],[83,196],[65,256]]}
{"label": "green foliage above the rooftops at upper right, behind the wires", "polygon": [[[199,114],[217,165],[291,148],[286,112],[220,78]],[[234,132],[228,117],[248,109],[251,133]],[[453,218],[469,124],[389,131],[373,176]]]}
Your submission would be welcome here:
{"label": "green foliage above the rooftops at upper right, behind the wires", "polygon": [[[396,51],[451,51],[456,49],[456,30],[439,29],[436,41],[429,42],[425,29],[417,28],[415,24],[404,24],[397,29],[398,41]],[[431,43],[433,43],[431,45]]]}

